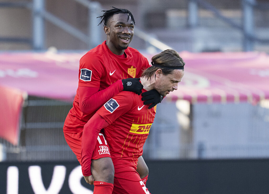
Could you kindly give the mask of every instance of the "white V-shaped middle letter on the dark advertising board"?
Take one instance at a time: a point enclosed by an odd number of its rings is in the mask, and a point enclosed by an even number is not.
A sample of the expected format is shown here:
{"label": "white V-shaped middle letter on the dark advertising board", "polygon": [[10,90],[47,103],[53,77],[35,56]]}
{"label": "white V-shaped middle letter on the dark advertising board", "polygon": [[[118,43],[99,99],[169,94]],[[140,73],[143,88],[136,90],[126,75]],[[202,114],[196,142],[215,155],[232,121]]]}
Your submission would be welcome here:
{"label": "white V-shaped middle letter on the dark advertising board", "polygon": [[65,166],[55,166],[52,174],[51,183],[48,190],[45,189],[40,166],[30,166],[28,168],[29,178],[35,194],[58,194],[65,180]]}

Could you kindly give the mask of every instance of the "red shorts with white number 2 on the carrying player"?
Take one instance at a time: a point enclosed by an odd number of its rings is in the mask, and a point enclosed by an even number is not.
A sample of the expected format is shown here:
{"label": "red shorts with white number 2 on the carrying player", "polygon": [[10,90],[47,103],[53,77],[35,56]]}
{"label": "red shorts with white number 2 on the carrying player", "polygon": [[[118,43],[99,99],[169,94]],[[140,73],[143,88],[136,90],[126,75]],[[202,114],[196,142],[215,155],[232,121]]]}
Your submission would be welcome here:
{"label": "red shorts with white number 2 on the carrying player", "polygon": [[150,194],[136,171],[115,173],[112,194]]}

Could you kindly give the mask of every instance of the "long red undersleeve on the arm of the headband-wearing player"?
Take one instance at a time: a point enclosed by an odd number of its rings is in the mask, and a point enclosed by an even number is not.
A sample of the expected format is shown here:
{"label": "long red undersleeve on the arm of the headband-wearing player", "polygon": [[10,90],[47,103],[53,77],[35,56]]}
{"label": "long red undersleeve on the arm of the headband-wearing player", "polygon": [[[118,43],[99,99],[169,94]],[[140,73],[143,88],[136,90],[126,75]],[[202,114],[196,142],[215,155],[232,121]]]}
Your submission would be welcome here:
{"label": "long red undersleeve on the arm of the headband-wearing player", "polygon": [[91,158],[97,141],[98,134],[101,129],[109,124],[98,114],[94,114],[91,119],[84,125],[82,134],[82,174],[84,176],[91,175]]}

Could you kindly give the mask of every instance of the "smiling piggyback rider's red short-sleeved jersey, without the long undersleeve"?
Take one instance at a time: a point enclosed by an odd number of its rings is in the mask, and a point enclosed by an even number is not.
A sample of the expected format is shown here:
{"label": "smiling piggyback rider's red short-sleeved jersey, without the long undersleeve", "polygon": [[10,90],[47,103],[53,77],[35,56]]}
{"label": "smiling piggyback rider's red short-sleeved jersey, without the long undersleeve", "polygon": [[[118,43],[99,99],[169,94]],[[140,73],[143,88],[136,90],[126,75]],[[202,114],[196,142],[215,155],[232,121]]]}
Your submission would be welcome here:
{"label": "smiling piggyback rider's red short-sleeved jersey, without the long undersleeve", "polygon": [[[147,58],[136,49],[128,47],[124,53],[126,54],[126,58],[115,55],[108,49],[106,41],[88,51],[80,59],[79,86],[99,88],[100,91],[119,79],[139,78],[142,71],[150,67]],[[68,133],[82,131],[84,124],[86,124],[94,113],[84,114],[80,110],[79,93],[77,90],[73,108],[66,117],[63,131]]]}

